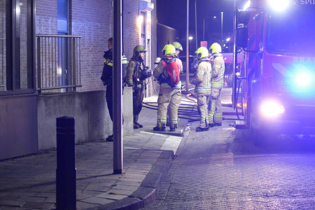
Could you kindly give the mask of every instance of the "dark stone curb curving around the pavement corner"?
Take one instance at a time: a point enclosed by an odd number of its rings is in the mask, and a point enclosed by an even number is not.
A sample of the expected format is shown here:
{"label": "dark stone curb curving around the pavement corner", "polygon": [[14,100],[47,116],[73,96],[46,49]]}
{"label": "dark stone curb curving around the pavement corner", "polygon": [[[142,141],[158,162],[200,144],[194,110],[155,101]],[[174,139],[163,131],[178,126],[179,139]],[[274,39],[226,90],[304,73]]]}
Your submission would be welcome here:
{"label": "dark stone curb curving around the pavement corner", "polygon": [[148,206],[157,198],[157,194],[161,189],[164,177],[166,176],[171,163],[173,162],[174,152],[171,150],[163,150],[157,162],[152,166],[150,172],[146,175],[140,187],[130,196],[119,201],[108,203],[94,208],[95,209],[140,209]]}

